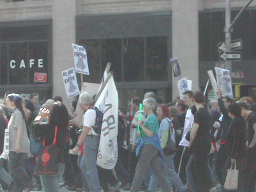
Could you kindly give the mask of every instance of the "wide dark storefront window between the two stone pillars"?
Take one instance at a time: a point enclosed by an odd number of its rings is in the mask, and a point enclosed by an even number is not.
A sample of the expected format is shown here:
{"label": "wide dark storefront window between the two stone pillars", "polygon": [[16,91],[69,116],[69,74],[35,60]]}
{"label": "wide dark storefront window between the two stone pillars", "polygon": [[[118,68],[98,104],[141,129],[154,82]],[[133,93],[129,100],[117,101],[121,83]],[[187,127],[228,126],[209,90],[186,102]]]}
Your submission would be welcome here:
{"label": "wide dark storefront window between the two stone pillars", "polygon": [[117,82],[167,80],[167,37],[80,40],[86,48],[90,76],[85,82],[100,82],[108,62]]}

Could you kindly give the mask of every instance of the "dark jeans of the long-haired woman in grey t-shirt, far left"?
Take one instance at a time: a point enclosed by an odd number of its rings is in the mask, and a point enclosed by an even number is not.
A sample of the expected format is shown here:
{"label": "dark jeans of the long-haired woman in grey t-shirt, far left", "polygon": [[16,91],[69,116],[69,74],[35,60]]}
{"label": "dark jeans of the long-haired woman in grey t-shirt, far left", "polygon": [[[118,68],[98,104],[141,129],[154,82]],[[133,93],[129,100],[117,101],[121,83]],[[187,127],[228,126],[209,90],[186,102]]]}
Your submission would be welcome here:
{"label": "dark jeans of the long-haired woman in grey t-shirt, far left", "polygon": [[9,153],[8,170],[12,172],[13,182],[10,186],[12,192],[22,192],[24,187],[32,185],[32,178],[25,169],[27,154],[14,151]]}

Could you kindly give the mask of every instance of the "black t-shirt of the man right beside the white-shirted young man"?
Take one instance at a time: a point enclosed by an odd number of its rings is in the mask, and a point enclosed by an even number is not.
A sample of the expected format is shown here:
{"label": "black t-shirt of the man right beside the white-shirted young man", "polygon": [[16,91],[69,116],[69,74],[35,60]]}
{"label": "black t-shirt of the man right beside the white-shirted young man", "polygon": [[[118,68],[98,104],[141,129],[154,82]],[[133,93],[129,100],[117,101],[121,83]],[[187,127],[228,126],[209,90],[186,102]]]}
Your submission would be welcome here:
{"label": "black t-shirt of the man right beside the white-shirted young man", "polygon": [[210,127],[211,127],[211,117],[210,113],[206,108],[199,108],[194,114],[194,123],[199,124],[196,133],[196,146],[209,146],[211,144],[210,138]]}

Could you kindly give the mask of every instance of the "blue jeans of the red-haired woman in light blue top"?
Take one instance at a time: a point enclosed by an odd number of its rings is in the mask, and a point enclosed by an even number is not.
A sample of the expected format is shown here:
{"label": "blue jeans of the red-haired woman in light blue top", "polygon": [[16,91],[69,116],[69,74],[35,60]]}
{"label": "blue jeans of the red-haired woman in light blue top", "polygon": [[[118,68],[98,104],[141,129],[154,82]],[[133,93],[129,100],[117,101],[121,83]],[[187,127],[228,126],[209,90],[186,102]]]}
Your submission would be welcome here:
{"label": "blue jeans of the red-haired woman in light blue top", "polygon": [[[176,191],[184,191],[185,190],[184,185],[174,168],[174,156],[175,156],[175,153],[168,156],[166,155],[165,161],[163,162],[163,160],[161,160],[161,164],[162,164],[161,167],[165,171],[166,180],[169,186],[172,188],[172,186],[174,185],[176,188]],[[148,190],[155,192],[156,188],[157,188],[157,181],[155,176],[152,174],[150,178],[150,184],[149,184]]]}

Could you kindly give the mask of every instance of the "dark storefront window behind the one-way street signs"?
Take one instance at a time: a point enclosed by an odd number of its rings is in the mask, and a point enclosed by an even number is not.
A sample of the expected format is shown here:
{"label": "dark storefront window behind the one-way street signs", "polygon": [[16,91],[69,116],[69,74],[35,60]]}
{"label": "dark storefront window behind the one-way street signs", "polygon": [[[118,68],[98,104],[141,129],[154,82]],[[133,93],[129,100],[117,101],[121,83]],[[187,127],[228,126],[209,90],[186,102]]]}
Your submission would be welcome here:
{"label": "dark storefront window behind the one-way street signs", "polygon": [[[232,11],[232,20],[238,11]],[[217,44],[225,41],[225,13],[199,14],[199,56],[201,62],[219,61]],[[233,27],[232,40],[242,39],[242,60],[256,60],[256,10],[247,10]]]}

